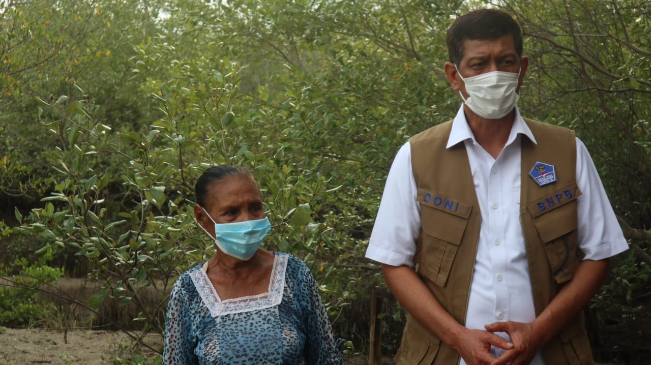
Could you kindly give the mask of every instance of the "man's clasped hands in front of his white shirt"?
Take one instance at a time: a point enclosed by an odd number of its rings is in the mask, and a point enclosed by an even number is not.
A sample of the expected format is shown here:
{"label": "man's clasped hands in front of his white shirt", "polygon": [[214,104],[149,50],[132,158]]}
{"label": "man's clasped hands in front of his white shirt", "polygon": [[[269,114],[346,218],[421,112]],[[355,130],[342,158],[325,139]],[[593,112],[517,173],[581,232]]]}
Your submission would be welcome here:
{"label": "man's clasped hands in front of his white shirt", "polygon": [[[493,332],[506,332],[512,342]],[[468,365],[527,365],[542,347],[531,323],[514,321],[491,323],[486,331],[469,329],[459,342],[458,351]],[[504,355],[495,358],[491,345],[505,349]]]}

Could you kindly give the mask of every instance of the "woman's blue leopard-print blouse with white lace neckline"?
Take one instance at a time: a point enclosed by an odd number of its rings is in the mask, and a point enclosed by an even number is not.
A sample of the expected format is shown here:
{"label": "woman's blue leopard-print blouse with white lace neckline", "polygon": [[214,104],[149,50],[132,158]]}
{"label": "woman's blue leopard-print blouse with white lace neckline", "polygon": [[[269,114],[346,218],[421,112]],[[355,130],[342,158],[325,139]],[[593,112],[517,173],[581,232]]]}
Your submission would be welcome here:
{"label": "woman's blue leopard-print blouse with white lace neckline", "polygon": [[201,265],[169,296],[163,364],[343,364],[312,273],[274,252],[269,291],[221,300]]}

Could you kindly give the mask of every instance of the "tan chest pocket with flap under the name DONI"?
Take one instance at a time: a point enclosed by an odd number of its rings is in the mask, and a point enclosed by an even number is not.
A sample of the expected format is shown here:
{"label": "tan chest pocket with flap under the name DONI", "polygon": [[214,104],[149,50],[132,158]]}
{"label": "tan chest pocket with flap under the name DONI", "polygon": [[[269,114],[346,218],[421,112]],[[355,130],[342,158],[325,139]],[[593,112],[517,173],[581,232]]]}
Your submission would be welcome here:
{"label": "tan chest pocket with flap under the name DONI", "polygon": [[468,221],[459,215],[421,204],[422,244],[419,274],[445,286]]}

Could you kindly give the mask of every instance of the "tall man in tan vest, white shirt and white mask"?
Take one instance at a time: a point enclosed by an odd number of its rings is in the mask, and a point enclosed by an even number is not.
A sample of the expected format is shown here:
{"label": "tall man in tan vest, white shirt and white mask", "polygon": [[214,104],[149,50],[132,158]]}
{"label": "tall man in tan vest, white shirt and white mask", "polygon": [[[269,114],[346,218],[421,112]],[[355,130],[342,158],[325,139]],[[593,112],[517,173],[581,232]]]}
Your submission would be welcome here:
{"label": "tall man in tan vest, white shirt and white mask", "polygon": [[387,177],[367,257],[408,312],[397,364],[592,364],[582,309],[628,248],[568,129],[523,118],[518,23],[458,18],[454,120],[411,137]]}

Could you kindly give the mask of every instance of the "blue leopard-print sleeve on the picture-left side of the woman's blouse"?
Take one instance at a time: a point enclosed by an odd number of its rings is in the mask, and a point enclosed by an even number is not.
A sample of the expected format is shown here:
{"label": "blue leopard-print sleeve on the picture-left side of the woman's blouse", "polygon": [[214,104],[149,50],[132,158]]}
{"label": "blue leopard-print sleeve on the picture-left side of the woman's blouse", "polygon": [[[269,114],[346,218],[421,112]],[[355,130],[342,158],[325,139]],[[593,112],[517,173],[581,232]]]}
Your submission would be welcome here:
{"label": "blue leopard-print sleeve on the picture-left side of the woman's blouse", "polygon": [[188,297],[180,283],[178,280],[174,284],[167,303],[163,364],[199,364],[194,353]]}

